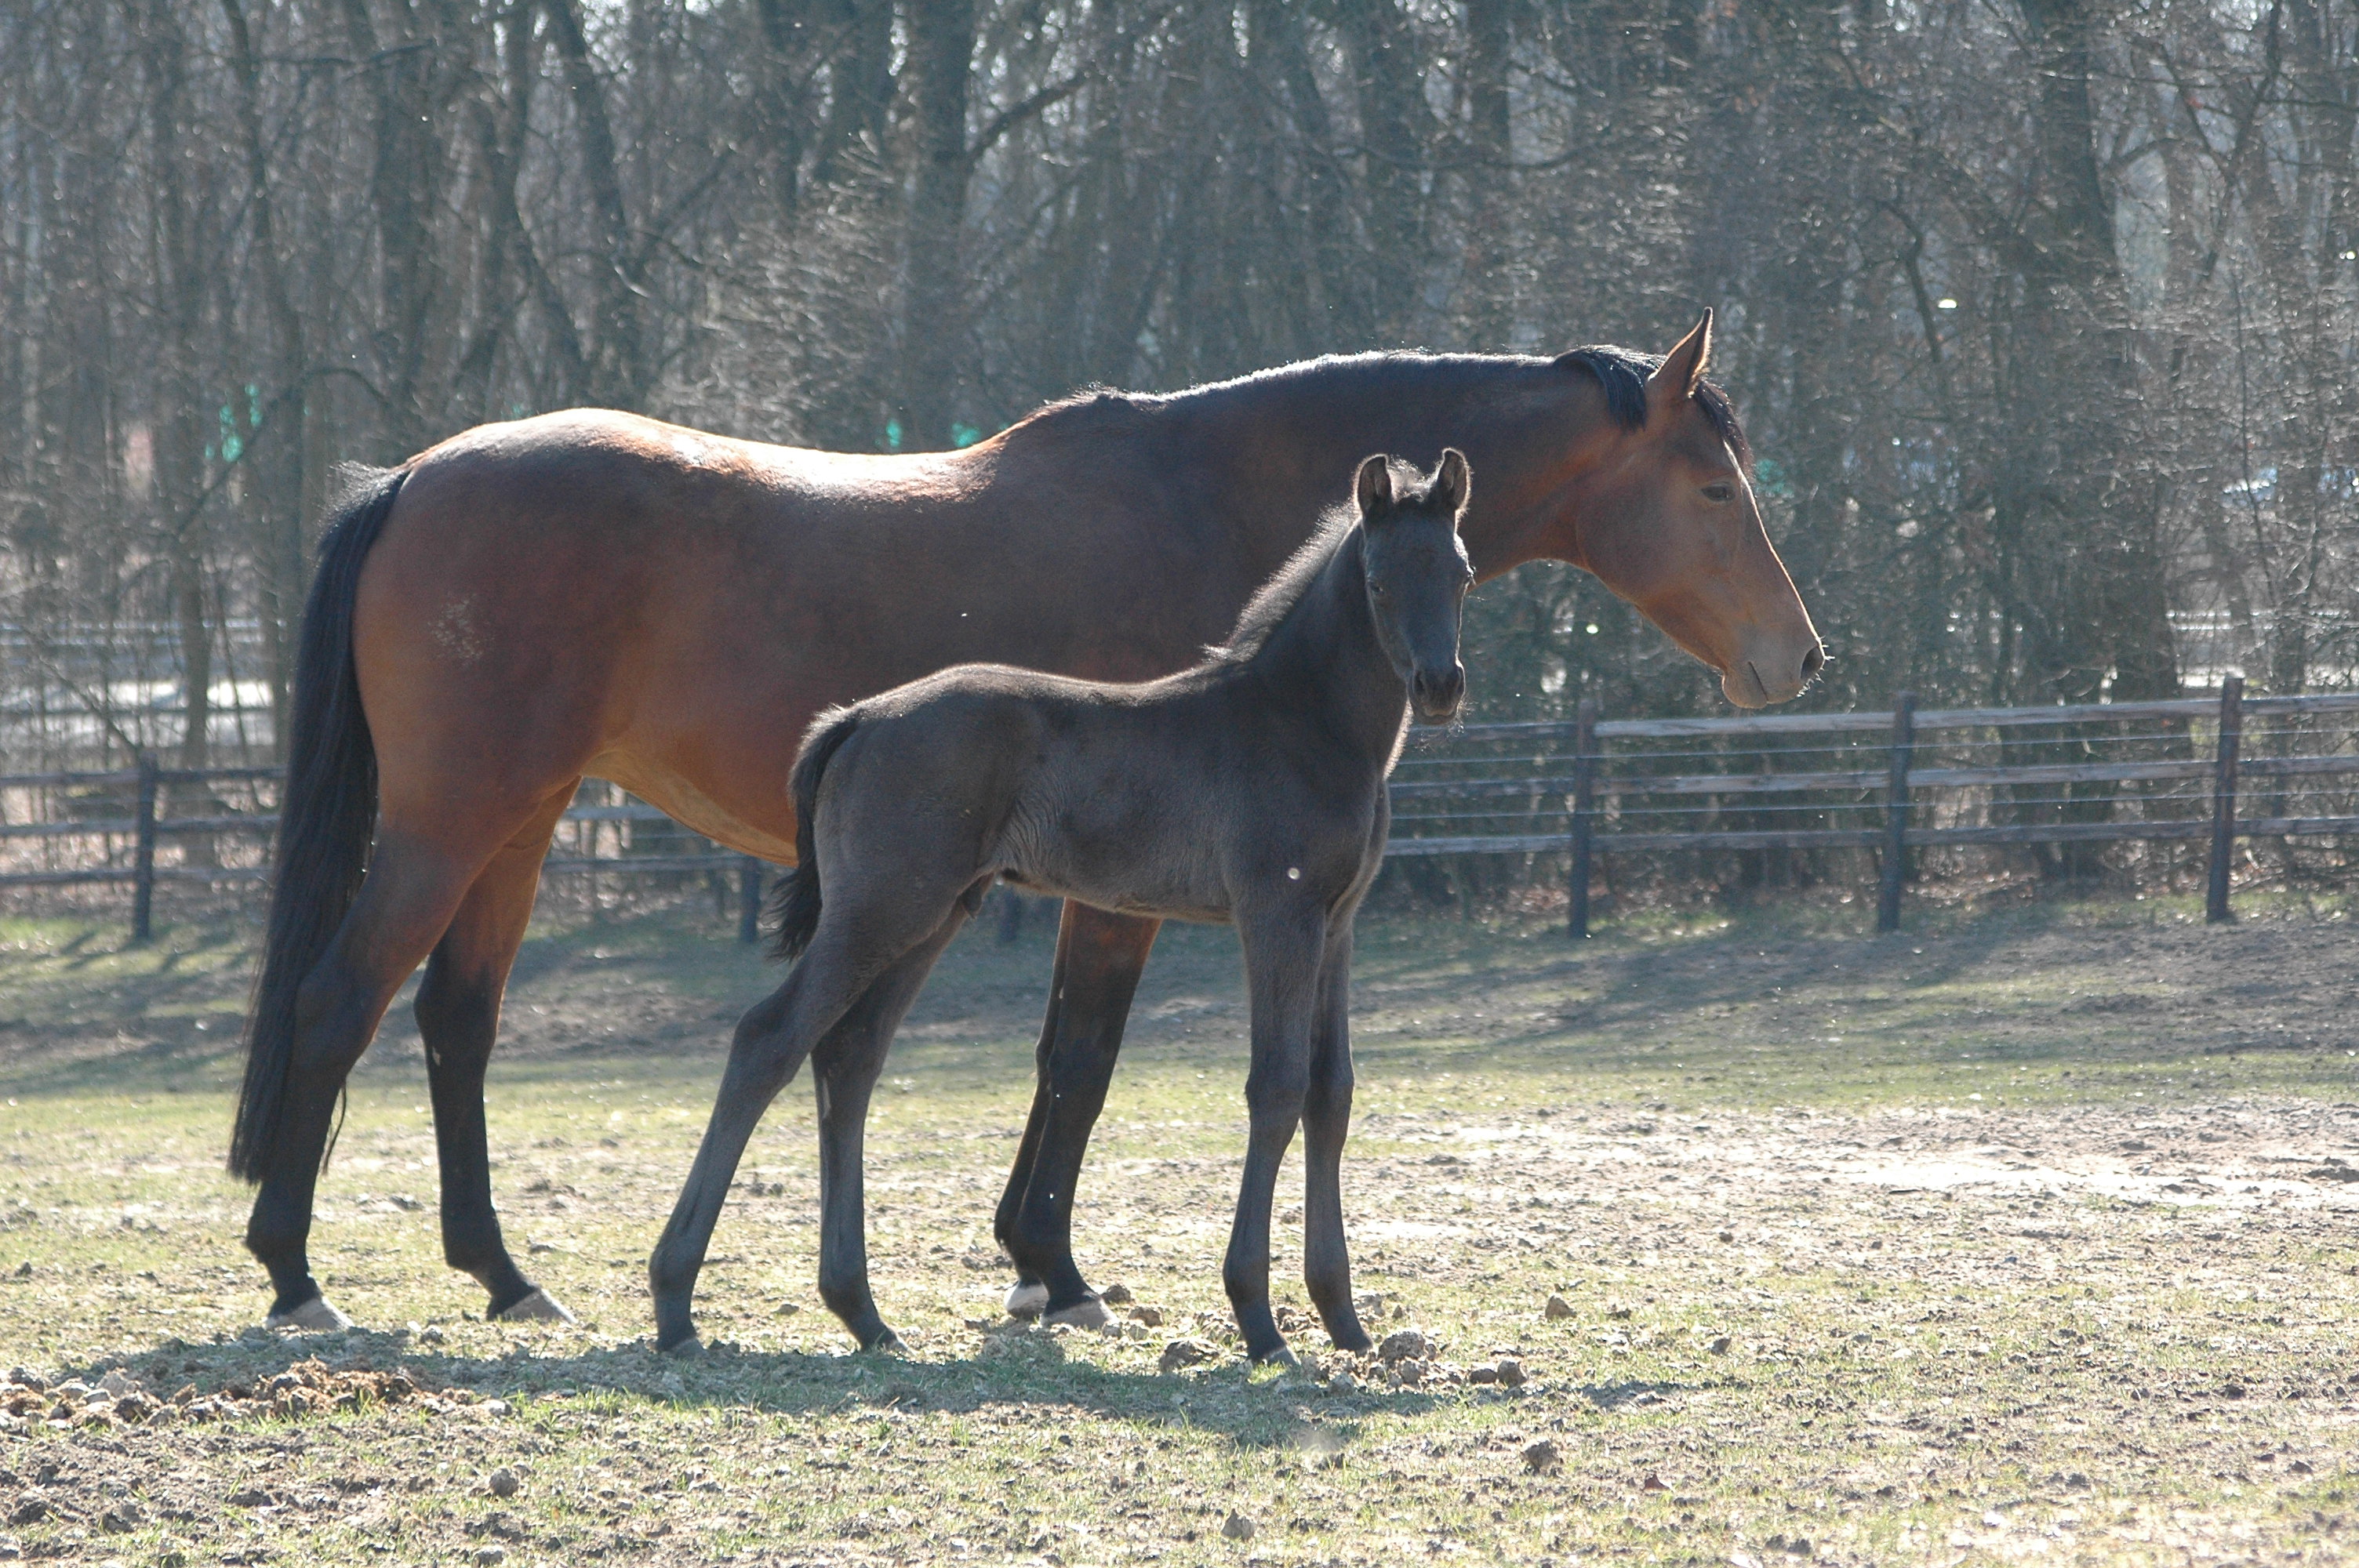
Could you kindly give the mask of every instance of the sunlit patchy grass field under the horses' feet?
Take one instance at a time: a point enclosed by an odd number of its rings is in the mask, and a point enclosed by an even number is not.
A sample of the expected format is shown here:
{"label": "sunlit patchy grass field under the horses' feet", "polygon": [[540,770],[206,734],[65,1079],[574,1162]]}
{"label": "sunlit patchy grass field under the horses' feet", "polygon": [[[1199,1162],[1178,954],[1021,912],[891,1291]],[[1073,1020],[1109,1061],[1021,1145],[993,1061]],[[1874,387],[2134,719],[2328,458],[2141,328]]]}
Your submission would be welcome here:
{"label": "sunlit patchy grass field under the horses' feet", "polygon": [[[811,1287],[797,1082],[715,1238],[698,1361],[644,1259],[736,1012],[710,915],[535,931],[493,1066],[512,1245],[576,1330],[441,1266],[406,1014],[354,1078],[271,1337],[219,1170],[243,929],[0,922],[0,1554],[123,1563],[2342,1561],[2359,1528],[2359,969],[2340,908],[1371,920],[1345,1162],[1394,1386],[1248,1372],[1227,931],[1142,988],[1076,1238],[1121,1335],[1012,1330],[991,1205],[1045,922],[962,938],[870,1127],[908,1358]],[[1281,1184],[1281,1302],[1300,1287]],[[1557,1297],[1557,1316],[1548,1302]],[[1154,1318],[1156,1323],[1146,1323]],[[1165,1346],[1213,1353],[1158,1370]],[[1467,1375],[1512,1356],[1519,1389]],[[170,1401],[182,1394],[182,1403]],[[109,1410],[116,1410],[109,1415]],[[139,1419],[125,1419],[127,1415]],[[505,1471],[505,1474],[502,1474]]]}

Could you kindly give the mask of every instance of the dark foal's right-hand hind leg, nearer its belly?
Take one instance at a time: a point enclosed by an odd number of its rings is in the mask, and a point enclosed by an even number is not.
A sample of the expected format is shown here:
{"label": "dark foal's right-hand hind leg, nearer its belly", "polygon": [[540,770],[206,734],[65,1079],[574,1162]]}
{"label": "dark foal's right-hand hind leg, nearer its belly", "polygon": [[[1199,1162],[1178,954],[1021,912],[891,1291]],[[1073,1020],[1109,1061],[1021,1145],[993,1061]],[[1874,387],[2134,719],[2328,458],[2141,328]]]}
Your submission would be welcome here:
{"label": "dark foal's right-hand hind leg, nearer its belly", "polygon": [[868,1292],[868,1096],[885,1070],[901,1016],[965,922],[965,905],[953,905],[951,917],[880,974],[811,1052],[811,1087],[819,1096],[819,1294],[863,1351],[901,1346]]}

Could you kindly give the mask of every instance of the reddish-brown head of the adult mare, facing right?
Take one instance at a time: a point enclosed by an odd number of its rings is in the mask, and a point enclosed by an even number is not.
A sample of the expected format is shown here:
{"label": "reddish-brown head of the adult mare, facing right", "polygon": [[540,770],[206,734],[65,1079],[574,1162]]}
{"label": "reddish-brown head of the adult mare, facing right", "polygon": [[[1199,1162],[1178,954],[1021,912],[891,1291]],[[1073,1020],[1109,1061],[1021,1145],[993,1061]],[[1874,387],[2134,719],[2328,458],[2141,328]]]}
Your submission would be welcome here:
{"label": "reddish-brown head of the adult mare, facing right", "polygon": [[1590,568],[1720,672],[1739,707],[1798,696],[1826,651],[1762,528],[1750,450],[1729,401],[1703,380],[1713,316],[1656,365],[1614,349],[1557,363],[1595,375],[1606,413],[1559,469],[1533,554]]}

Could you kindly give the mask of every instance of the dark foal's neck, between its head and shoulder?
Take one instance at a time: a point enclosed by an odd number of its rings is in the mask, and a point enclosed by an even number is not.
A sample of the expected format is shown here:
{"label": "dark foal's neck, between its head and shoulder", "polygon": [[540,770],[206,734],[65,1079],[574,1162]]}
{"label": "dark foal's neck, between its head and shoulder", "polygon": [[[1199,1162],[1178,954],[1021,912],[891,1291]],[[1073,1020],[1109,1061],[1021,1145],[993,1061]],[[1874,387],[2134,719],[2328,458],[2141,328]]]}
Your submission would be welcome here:
{"label": "dark foal's neck, between its head and shoulder", "polygon": [[1354,528],[1269,630],[1248,667],[1281,703],[1319,714],[1330,733],[1382,766],[1401,736],[1408,689],[1375,639],[1368,578]]}

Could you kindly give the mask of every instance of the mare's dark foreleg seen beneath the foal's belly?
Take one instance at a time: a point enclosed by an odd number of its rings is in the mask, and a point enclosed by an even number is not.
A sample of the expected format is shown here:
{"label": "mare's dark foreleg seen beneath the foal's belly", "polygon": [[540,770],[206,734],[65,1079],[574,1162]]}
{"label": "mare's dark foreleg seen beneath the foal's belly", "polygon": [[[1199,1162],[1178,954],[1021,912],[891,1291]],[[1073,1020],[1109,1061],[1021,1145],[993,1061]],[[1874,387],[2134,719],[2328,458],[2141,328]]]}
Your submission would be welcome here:
{"label": "mare's dark foreleg seen beneath the foal's belly", "polygon": [[1113,1082],[1130,997],[1161,929],[1163,922],[1151,917],[1064,905],[1057,974],[1033,1056],[1038,1085],[1031,1120],[993,1221],[1017,1264],[1017,1285],[1007,1292],[1007,1311],[1017,1318],[1047,1313],[1085,1327],[1106,1320],[1106,1309],[1073,1264],[1073,1188],[1090,1129],[1106,1106],[1106,1085]]}

